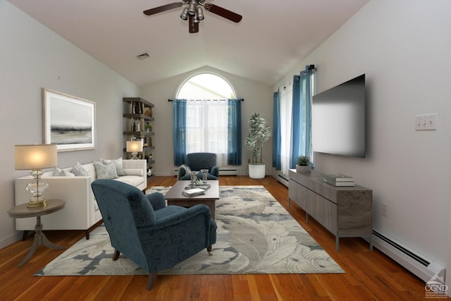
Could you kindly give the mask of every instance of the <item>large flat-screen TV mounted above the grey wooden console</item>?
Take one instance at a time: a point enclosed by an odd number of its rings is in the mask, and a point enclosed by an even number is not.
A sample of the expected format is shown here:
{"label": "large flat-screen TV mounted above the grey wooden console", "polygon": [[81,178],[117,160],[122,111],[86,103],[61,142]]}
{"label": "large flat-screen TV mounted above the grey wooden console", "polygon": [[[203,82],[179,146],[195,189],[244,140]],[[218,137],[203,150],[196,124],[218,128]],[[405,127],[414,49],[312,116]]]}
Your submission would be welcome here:
{"label": "large flat-screen TV mounted above the grey wooden console", "polygon": [[311,144],[314,152],[365,156],[365,75],[313,96]]}

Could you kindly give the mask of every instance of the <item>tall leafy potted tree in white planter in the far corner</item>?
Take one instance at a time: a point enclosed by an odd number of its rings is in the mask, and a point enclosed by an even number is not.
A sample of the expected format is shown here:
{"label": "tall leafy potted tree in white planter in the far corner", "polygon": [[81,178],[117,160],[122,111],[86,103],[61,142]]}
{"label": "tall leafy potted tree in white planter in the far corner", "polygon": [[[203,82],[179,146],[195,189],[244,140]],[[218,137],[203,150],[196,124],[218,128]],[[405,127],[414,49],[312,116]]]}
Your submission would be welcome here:
{"label": "tall leafy potted tree in white planter in the far corner", "polygon": [[266,125],[266,120],[259,113],[249,116],[249,134],[246,138],[246,146],[251,151],[252,159],[249,162],[249,177],[261,179],[265,177],[265,164],[261,161],[263,144],[271,137],[271,128]]}

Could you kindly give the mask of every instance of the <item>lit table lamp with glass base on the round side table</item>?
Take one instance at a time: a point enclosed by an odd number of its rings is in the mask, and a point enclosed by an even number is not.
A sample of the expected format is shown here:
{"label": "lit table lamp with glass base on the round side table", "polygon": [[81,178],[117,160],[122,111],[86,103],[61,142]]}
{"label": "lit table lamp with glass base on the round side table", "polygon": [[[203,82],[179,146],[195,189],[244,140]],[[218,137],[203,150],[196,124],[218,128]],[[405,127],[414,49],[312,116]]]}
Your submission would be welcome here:
{"label": "lit table lamp with glass base on the round side table", "polygon": [[14,166],[16,170],[30,170],[33,180],[27,185],[32,197],[27,207],[43,207],[47,199],[42,194],[49,187],[49,183],[41,179],[44,168],[57,165],[56,145],[15,145]]}

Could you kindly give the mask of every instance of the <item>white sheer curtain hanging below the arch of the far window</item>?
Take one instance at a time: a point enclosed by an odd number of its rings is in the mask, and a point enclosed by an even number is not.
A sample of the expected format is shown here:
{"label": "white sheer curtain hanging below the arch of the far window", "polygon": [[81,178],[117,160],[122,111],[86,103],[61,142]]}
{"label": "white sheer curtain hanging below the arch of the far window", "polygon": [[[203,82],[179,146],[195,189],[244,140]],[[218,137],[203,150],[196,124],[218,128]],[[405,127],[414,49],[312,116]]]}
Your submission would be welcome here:
{"label": "white sheer curtain hanging below the arch of the far window", "polygon": [[213,152],[216,165],[227,165],[228,105],[219,100],[190,100],[186,106],[186,153]]}

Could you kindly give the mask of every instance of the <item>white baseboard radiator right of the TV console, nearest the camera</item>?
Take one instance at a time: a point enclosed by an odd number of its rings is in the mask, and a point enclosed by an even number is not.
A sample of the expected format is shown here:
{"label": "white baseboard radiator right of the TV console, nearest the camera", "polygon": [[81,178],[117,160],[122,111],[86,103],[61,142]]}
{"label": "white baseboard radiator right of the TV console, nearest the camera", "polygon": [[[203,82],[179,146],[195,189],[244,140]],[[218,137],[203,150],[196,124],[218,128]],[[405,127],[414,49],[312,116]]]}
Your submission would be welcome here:
{"label": "white baseboard radiator right of the TV console, nearest the camera", "polygon": [[426,257],[414,252],[414,250],[410,250],[408,247],[401,245],[400,242],[396,242],[393,238],[389,238],[387,235],[375,230],[373,230],[373,246],[411,271],[412,274],[421,278],[425,283],[436,275],[445,280],[444,266],[431,262]]}

